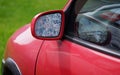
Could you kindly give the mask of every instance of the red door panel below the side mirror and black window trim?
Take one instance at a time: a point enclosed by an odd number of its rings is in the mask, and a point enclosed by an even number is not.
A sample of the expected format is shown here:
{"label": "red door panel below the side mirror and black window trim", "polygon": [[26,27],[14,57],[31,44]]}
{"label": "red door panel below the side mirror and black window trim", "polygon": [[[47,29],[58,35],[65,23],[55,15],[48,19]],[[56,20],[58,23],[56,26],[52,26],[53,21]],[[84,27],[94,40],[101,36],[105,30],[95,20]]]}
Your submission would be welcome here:
{"label": "red door panel below the side mirror and black window trim", "polygon": [[36,75],[120,75],[120,59],[71,41],[45,41]]}

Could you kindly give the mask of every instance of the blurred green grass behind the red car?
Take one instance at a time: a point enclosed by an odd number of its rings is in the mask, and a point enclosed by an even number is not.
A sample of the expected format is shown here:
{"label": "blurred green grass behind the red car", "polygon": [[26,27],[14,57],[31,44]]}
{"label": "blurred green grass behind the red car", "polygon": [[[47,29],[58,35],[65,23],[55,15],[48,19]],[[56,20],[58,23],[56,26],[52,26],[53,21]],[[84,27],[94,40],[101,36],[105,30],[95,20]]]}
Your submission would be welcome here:
{"label": "blurred green grass behind the red car", "polygon": [[[0,0],[0,67],[9,37],[40,12],[61,9],[67,0]],[[0,68],[1,71],[1,68]]]}

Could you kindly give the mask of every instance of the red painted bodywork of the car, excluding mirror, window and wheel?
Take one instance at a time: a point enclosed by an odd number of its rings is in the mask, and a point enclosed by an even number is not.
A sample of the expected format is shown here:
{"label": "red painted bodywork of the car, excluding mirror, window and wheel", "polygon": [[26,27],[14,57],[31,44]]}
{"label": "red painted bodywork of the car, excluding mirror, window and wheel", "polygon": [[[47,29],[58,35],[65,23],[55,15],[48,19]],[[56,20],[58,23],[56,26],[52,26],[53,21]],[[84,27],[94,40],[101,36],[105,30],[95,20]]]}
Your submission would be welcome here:
{"label": "red painted bodywork of the car, excluding mirror, window and wheel", "polygon": [[[72,2],[69,0],[63,11]],[[78,44],[79,40],[71,41],[65,36],[62,40],[36,39],[30,24],[25,25],[10,37],[3,64],[12,59],[18,75],[120,75],[119,54],[105,53],[96,50],[99,46],[90,44],[96,47],[91,48],[89,43]]]}

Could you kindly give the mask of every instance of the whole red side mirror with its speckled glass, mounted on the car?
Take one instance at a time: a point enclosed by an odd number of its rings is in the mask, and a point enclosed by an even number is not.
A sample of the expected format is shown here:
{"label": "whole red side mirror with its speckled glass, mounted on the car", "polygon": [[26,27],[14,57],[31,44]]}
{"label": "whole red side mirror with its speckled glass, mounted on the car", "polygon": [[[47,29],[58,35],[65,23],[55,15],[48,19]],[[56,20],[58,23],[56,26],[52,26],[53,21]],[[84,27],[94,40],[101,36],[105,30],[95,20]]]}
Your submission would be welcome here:
{"label": "whole red side mirror with its speckled glass, mounted on the car", "polygon": [[36,15],[31,22],[32,35],[42,40],[62,38],[64,13],[62,10],[44,12]]}

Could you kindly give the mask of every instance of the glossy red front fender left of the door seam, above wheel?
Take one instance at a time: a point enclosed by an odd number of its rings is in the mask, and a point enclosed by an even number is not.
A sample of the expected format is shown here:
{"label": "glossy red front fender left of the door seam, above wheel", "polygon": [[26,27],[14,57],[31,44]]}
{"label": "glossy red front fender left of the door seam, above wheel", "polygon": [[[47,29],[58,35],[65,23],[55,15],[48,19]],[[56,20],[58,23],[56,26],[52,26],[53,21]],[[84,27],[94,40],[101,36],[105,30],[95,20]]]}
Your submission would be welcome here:
{"label": "glossy red front fender left of the door seam, above wheel", "polygon": [[37,54],[42,42],[32,36],[30,25],[26,25],[9,39],[4,59],[12,58],[22,75],[34,75]]}

